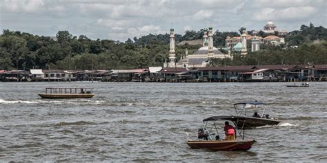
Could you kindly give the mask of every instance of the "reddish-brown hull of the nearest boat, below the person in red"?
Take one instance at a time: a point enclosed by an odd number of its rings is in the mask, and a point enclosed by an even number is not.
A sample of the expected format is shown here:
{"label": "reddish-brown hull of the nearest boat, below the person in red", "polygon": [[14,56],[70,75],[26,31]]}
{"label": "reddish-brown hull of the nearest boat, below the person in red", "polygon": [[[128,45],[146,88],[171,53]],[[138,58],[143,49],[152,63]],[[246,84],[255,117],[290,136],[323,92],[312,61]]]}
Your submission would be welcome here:
{"label": "reddish-brown hull of the nearest boat, below the person in red", "polygon": [[255,140],[189,140],[188,146],[192,149],[215,151],[248,151],[255,142]]}

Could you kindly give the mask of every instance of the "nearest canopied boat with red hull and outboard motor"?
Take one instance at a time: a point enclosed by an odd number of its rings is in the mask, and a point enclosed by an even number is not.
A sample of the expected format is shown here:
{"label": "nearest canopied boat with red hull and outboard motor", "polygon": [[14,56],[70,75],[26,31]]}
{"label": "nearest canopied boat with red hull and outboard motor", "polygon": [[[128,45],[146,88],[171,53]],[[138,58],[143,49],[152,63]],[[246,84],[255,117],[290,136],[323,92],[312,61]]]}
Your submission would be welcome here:
{"label": "nearest canopied boat with red hull and outboard motor", "polygon": [[[215,122],[217,120],[229,120],[234,122],[233,120],[238,119],[234,116],[214,116],[210,118],[206,118],[203,121],[206,122],[204,129],[199,129],[199,135],[201,131],[204,131],[202,136],[198,137],[199,140],[188,140],[187,144],[192,149],[210,149],[215,151],[248,151],[251,149],[252,144],[254,144],[255,140],[244,140],[244,129],[243,128],[236,128],[239,131],[238,138],[236,140],[221,140],[219,138],[218,129],[216,127]],[[206,128],[208,122],[212,121],[212,127],[210,127],[210,131]],[[234,122],[235,124],[235,122]],[[212,131],[217,132],[216,140],[212,140],[211,135],[215,135],[215,133],[211,133]],[[242,133],[243,131],[243,133]]]}

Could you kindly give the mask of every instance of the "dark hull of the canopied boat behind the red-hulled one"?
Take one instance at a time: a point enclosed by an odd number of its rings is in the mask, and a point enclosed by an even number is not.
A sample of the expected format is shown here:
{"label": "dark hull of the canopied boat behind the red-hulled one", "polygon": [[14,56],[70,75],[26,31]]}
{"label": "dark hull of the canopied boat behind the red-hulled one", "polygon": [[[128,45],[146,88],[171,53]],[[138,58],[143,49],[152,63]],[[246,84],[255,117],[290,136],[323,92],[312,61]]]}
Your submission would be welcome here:
{"label": "dark hull of the canopied boat behind the red-hulled one", "polygon": [[244,119],[233,120],[237,127],[241,129],[253,129],[255,127],[262,126],[273,126],[279,124],[279,120],[272,120],[267,118],[252,118],[252,117],[244,117]]}

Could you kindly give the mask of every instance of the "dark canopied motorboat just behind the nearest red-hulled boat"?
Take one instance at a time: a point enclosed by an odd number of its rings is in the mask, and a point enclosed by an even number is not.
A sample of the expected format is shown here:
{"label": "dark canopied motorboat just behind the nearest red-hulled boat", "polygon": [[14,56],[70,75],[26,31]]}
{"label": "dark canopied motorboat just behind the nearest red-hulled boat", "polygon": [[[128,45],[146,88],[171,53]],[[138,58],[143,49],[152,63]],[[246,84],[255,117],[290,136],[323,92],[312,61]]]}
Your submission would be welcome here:
{"label": "dark canopied motorboat just behind the nearest red-hulled boat", "polygon": [[[266,104],[264,102],[239,102],[234,104],[237,116],[232,119],[237,127],[244,127],[244,129],[253,129],[255,127],[261,127],[266,125],[277,125],[279,120],[270,118],[269,114],[265,113]],[[248,110],[252,110],[250,116],[248,116]]]}

